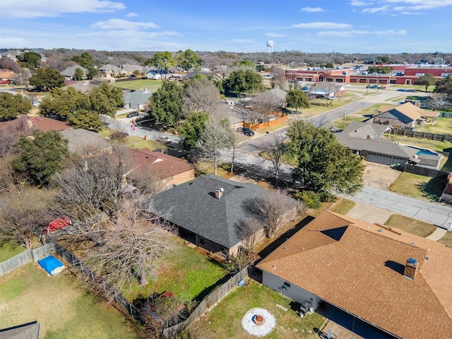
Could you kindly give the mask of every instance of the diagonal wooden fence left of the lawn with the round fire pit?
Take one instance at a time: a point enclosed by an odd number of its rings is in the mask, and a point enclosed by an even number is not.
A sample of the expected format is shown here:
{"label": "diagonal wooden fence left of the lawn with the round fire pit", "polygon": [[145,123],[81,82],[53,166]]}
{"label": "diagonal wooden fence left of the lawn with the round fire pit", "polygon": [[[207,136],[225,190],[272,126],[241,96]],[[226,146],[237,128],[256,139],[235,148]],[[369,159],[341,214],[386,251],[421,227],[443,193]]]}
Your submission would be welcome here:
{"label": "diagonal wooden fence left of the lawn with the round fire pit", "polygon": [[227,280],[223,285],[215,288],[210,295],[203,299],[202,302],[199,303],[198,307],[193,311],[190,316],[182,321],[182,323],[178,323],[177,325],[171,326],[169,328],[165,328],[163,330],[163,335],[165,338],[176,338],[177,335],[182,333],[187,327],[189,327],[192,323],[197,321],[201,316],[206,314],[207,311],[213,309],[213,307],[220,302],[220,300],[227,296],[229,292],[234,290],[239,285],[239,281],[248,277],[248,268],[244,268],[239,273],[234,275],[230,280]]}

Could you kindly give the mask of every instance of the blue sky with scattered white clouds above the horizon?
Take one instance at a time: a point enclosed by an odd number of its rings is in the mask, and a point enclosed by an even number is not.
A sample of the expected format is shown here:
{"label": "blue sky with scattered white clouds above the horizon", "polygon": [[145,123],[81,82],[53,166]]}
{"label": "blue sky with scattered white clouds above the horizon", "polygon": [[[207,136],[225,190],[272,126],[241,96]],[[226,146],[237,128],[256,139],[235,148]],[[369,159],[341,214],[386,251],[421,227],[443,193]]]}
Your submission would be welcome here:
{"label": "blue sky with scattered white clouds above the horizon", "polygon": [[0,0],[0,48],[452,52],[452,0]]}

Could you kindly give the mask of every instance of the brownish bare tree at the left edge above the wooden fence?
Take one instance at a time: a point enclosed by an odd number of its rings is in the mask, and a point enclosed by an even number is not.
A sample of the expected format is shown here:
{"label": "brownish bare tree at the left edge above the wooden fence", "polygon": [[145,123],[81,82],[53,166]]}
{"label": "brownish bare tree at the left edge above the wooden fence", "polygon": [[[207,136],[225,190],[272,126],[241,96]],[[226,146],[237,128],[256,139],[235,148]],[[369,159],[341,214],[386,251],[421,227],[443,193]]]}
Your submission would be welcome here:
{"label": "brownish bare tree at the left edge above the wooden fence", "polygon": [[0,198],[0,231],[4,239],[16,238],[32,249],[32,237],[39,225],[49,222],[46,209],[52,193],[44,189],[21,187]]}

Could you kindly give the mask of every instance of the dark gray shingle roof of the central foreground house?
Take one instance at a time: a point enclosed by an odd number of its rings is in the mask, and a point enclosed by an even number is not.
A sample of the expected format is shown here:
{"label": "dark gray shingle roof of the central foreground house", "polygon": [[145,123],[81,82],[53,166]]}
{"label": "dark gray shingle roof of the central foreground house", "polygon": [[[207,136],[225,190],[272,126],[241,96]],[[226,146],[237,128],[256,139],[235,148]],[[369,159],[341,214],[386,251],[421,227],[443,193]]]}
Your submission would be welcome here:
{"label": "dark gray shingle roof of the central foreground house", "polygon": [[[217,199],[215,189],[221,188],[222,197]],[[157,194],[154,208],[167,214],[170,222],[229,249],[241,241],[235,234],[237,222],[249,218],[243,201],[266,194],[270,192],[261,186],[207,174]]]}

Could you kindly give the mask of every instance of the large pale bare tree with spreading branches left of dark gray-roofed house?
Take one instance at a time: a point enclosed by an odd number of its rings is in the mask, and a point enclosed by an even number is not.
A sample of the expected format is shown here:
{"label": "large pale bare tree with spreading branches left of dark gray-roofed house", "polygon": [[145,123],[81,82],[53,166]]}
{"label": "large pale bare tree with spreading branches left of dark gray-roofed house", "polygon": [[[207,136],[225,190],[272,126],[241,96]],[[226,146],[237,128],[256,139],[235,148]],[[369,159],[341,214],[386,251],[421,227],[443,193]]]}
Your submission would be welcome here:
{"label": "large pale bare tree with spreading branches left of dark gray-roofed house", "polygon": [[121,200],[115,222],[100,227],[102,242],[85,249],[83,261],[102,284],[128,290],[135,282],[141,286],[159,273],[162,258],[177,248],[173,227],[162,222],[148,198],[133,196]]}

